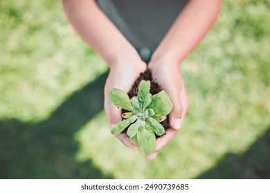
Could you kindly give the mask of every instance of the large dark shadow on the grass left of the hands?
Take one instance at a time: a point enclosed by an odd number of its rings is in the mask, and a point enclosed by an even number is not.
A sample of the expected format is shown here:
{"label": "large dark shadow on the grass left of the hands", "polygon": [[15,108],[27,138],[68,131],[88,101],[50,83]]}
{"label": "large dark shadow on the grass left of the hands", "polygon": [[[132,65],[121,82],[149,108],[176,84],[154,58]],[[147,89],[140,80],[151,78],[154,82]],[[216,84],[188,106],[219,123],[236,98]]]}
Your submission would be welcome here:
{"label": "large dark shadow on the grass left of the hands", "polygon": [[0,179],[111,179],[91,161],[75,161],[73,139],[103,109],[106,77],[73,93],[42,123],[0,121]]}

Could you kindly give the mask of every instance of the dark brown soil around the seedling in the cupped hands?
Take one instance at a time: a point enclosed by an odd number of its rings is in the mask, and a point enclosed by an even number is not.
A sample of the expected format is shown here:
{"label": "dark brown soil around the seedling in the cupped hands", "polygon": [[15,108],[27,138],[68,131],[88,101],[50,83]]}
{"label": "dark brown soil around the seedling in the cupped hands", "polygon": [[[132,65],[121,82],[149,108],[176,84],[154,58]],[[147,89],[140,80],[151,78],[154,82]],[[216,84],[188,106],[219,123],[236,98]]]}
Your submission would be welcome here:
{"label": "dark brown soil around the seedling in the cupped hands", "polygon": [[[151,94],[156,94],[161,92],[161,85],[159,85],[159,83],[156,83],[155,81],[153,81],[152,79],[152,74],[151,71],[149,69],[145,70],[145,72],[141,72],[140,77],[138,77],[138,79],[136,79],[136,81],[134,82],[134,84],[132,85],[132,89],[129,90],[129,92],[127,93],[129,96],[129,99],[132,99],[133,96],[137,96],[138,94],[138,84],[142,81],[150,81],[151,86],[150,86],[150,93]],[[127,112],[127,110],[122,110],[122,113]],[[163,125],[163,128],[165,130],[168,130],[168,128],[170,128],[170,122],[169,122],[169,116],[167,115],[167,118],[161,122],[161,125]],[[123,130],[123,133],[127,133],[127,129],[125,128],[125,130]],[[166,134],[166,132],[165,132]],[[158,138],[159,136],[156,135],[156,138]]]}

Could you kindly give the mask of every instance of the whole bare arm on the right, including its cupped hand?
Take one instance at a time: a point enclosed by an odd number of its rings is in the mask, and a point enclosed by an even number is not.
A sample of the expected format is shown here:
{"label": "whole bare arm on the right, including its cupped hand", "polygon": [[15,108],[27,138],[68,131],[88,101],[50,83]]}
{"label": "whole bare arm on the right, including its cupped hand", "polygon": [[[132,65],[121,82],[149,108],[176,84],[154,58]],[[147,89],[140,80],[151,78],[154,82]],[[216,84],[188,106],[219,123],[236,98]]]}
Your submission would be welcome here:
{"label": "whole bare arm on the right, including its cupped hand", "polygon": [[222,6],[222,0],[190,0],[161,41],[153,54],[149,67],[152,77],[168,92],[173,108],[170,125],[156,141],[156,152],[148,159],[154,159],[181,128],[188,112],[186,88],[179,72],[179,63],[200,43],[215,23]]}

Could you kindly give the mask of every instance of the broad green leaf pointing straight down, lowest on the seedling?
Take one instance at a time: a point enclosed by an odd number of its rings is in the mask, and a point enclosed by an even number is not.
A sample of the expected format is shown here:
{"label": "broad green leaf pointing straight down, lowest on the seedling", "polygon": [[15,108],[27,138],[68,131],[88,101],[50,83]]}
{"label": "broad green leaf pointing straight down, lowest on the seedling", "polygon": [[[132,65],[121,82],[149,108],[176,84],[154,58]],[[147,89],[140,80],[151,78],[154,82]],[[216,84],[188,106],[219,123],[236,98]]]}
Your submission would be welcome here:
{"label": "broad green leaf pointing straight down, lowest on the seedling", "polygon": [[152,154],[156,148],[156,136],[154,132],[149,132],[145,128],[140,128],[137,132],[138,148],[145,154]]}

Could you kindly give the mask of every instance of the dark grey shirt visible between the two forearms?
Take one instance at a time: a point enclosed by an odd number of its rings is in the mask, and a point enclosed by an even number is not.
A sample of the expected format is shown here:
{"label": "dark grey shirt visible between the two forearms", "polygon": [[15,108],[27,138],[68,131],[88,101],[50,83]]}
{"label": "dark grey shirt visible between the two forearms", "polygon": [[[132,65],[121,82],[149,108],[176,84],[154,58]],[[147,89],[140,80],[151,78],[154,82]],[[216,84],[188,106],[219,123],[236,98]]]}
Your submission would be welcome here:
{"label": "dark grey shirt visible between the two forearms", "polygon": [[96,0],[135,48],[156,49],[188,0]]}

